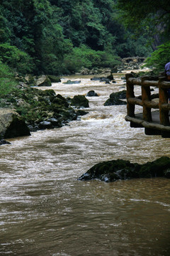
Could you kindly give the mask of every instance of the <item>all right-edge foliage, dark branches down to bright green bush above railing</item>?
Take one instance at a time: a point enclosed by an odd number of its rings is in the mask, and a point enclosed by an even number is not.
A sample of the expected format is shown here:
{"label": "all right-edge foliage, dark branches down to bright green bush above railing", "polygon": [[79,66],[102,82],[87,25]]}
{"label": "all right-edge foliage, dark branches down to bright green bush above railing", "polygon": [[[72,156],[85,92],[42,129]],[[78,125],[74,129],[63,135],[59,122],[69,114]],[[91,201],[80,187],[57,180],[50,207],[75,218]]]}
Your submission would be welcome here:
{"label": "all right-edge foliage, dark branches down to bright green bush above railing", "polygon": [[155,68],[155,72],[164,70],[170,61],[169,0],[118,0],[116,6],[126,27],[132,28],[136,35],[150,35],[154,52],[147,58],[146,66]]}

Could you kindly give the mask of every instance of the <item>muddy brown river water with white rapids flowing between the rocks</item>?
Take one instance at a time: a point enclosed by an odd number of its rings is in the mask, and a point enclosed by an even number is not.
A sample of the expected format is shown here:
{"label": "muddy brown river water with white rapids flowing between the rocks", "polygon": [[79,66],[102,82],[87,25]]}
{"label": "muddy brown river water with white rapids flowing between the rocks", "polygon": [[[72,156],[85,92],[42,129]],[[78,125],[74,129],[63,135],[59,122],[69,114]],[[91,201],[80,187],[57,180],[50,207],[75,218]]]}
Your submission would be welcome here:
{"label": "muddy brown river water with white rapids flowing between the rocks", "polygon": [[[170,139],[130,128],[126,105],[103,106],[112,92],[125,90],[114,77],[114,84],[91,76],[53,83],[64,97],[89,90],[99,96],[87,97],[89,114],[81,119],[0,147],[0,255],[170,255],[169,179],[77,180],[100,161],[144,164],[170,156]],[[81,83],[64,84],[68,79]]]}

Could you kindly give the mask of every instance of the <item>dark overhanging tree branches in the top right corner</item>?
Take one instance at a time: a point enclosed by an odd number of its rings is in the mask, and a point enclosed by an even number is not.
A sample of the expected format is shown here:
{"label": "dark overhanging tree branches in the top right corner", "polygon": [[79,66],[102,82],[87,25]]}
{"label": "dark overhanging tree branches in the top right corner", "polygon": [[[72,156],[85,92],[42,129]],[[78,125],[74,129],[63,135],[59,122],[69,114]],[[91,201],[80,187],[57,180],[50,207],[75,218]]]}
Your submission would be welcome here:
{"label": "dark overhanging tree branches in the top right corner", "polygon": [[156,45],[169,41],[169,0],[117,0],[116,7],[120,10],[125,26],[133,28],[135,33],[149,33],[154,43],[157,41]]}

